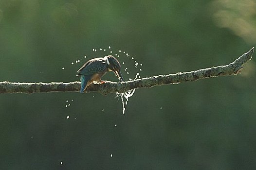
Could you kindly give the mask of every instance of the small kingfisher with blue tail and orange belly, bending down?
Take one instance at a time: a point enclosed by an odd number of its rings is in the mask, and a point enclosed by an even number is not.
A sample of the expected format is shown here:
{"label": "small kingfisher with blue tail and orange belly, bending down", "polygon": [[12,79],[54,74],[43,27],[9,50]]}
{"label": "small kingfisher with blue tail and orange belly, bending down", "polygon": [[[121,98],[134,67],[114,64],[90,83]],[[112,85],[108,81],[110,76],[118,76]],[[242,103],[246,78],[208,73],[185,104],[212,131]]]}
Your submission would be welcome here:
{"label": "small kingfisher with blue tail and orange belly, bending down", "polygon": [[113,71],[118,77],[118,80],[123,82],[124,78],[121,74],[121,65],[118,60],[112,55],[105,57],[93,58],[86,62],[78,71],[77,76],[80,77],[81,89],[80,93],[86,89],[88,85],[91,85],[93,82],[105,83],[101,80],[101,77],[104,76],[107,72]]}

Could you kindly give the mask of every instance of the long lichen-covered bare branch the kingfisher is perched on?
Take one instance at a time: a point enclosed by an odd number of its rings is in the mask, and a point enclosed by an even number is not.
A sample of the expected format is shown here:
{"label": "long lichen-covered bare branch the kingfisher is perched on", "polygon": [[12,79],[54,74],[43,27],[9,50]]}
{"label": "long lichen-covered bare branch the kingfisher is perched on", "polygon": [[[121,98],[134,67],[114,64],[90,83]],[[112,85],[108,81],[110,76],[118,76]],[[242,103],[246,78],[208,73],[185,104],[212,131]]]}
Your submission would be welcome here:
{"label": "long lichen-covered bare branch the kingfisher is perched on", "polygon": [[[178,72],[176,74],[152,76],[122,83],[106,82],[105,84],[91,84],[86,88],[87,92],[99,92],[103,95],[110,93],[123,93],[131,89],[153,87],[156,85],[179,84],[199,79],[237,75],[243,68],[243,64],[251,60],[254,48],[241,55],[234,62],[212,68],[204,68],[190,72]],[[0,82],[0,93],[40,93],[40,92],[78,92],[80,82],[52,82],[52,83],[12,83]]]}

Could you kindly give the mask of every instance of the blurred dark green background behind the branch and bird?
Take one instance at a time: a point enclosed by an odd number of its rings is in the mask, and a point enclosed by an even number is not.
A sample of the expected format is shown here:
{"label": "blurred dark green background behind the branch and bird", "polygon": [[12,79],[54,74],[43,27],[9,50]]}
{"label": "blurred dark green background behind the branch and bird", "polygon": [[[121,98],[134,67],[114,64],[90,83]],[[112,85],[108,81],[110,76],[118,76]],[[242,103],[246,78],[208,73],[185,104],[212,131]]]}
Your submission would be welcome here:
{"label": "blurred dark green background behind the branch and bird", "polygon": [[[0,81],[78,81],[110,50],[141,77],[191,71],[255,43],[255,0],[0,0]],[[238,76],[138,89],[125,115],[114,94],[0,94],[0,169],[255,169],[255,58]]]}

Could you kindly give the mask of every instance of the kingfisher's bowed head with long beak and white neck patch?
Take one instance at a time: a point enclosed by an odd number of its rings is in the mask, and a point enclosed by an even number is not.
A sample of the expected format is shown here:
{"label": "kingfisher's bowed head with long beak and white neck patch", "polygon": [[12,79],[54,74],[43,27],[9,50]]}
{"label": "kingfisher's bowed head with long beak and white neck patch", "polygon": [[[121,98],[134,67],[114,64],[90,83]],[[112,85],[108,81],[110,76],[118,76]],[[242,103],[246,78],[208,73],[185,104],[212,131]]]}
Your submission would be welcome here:
{"label": "kingfisher's bowed head with long beak and white neck patch", "polygon": [[113,71],[115,73],[115,75],[118,77],[118,79],[123,82],[124,78],[121,74],[121,65],[119,63],[119,61],[113,57],[112,55],[108,55],[104,57],[106,63],[108,64],[108,69],[110,71]]}

